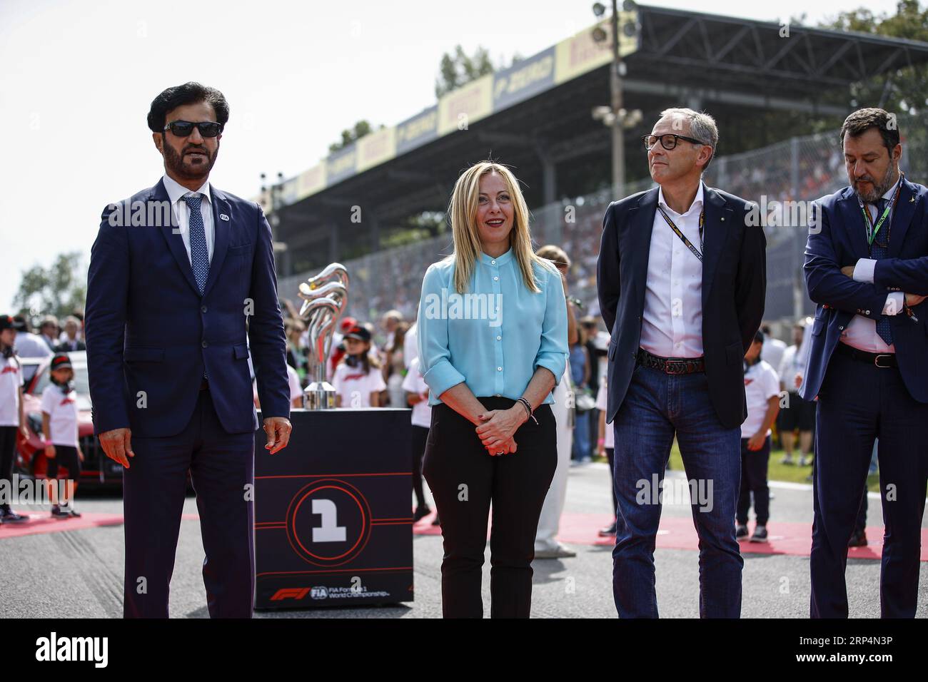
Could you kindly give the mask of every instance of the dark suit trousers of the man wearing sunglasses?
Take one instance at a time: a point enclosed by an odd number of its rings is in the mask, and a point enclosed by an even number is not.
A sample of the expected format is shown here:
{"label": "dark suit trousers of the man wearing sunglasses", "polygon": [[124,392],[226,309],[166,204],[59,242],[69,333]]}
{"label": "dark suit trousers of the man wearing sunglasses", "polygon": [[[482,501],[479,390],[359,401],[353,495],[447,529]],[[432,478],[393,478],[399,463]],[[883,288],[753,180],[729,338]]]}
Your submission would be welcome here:
{"label": "dark suit trousers of the man wearing sunglasses", "polygon": [[[174,555],[187,495],[197,493],[211,618],[251,618],[254,605],[254,434],[228,433],[209,391],[174,436],[133,436],[122,470],[124,618],[167,618]],[[265,455],[266,457],[266,455]]]}

